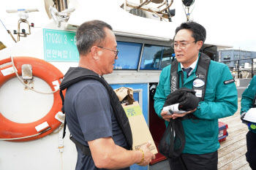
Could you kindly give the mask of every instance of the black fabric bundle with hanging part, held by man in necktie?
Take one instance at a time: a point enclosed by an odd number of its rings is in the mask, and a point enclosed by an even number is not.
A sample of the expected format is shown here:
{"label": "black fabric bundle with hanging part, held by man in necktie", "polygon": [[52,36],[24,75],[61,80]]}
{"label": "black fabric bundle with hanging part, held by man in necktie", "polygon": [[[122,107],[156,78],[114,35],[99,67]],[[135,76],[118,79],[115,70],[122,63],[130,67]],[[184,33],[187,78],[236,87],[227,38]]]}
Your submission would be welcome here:
{"label": "black fabric bundle with hanging part, held by man in necktie", "polygon": [[[178,109],[188,112],[198,106],[199,99],[195,96],[195,90],[179,88],[167,96],[163,107],[177,103],[179,104]],[[189,114],[192,115],[192,113]],[[158,146],[159,152],[165,155],[165,157],[176,158],[184,150],[186,139],[182,120],[186,120],[186,116],[189,118],[189,114],[174,120],[170,119],[170,123],[167,125]],[[198,119],[195,115],[192,116],[194,119]]]}

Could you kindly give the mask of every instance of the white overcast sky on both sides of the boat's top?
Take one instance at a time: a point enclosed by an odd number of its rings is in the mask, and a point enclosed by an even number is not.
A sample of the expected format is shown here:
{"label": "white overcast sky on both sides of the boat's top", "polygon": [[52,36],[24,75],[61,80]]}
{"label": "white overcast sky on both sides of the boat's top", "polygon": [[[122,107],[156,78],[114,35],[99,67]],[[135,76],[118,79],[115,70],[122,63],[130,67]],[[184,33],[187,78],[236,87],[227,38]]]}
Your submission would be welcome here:
{"label": "white overcast sky on both sides of the boat's top", "polygon": [[[116,1],[116,3],[120,4],[123,0],[109,1]],[[139,0],[128,1],[139,2]],[[214,42],[217,45],[233,46],[236,50],[256,51],[256,22],[253,19],[255,7],[255,0],[195,0],[195,3],[190,8],[190,10],[193,9],[190,20],[194,20],[206,28],[206,41],[208,42]],[[4,5],[0,6],[0,20],[12,32],[14,29],[17,30],[18,13],[7,13],[6,9],[20,8],[39,9],[39,12],[29,13],[29,23],[35,24],[35,28],[31,28],[32,34],[49,21],[44,9],[43,0],[4,1]],[[186,21],[181,0],[174,0],[170,9],[176,9],[176,15],[172,18],[174,26],[178,26]],[[15,42],[7,34],[4,26],[0,22],[0,41],[7,47],[10,47]],[[26,25],[23,26],[26,28]],[[14,36],[16,39],[17,36]]]}

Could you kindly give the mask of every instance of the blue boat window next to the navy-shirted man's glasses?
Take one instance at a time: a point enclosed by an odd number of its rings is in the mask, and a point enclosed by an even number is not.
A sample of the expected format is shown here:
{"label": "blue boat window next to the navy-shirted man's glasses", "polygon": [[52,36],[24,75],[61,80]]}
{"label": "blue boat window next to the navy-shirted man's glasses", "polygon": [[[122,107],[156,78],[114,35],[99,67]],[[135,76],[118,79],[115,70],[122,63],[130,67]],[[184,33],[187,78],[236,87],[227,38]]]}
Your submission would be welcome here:
{"label": "blue boat window next to the navy-shirted man's glasses", "polygon": [[118,59],[114,69],[138,69],[142,44],[132,42],[117,42]]}

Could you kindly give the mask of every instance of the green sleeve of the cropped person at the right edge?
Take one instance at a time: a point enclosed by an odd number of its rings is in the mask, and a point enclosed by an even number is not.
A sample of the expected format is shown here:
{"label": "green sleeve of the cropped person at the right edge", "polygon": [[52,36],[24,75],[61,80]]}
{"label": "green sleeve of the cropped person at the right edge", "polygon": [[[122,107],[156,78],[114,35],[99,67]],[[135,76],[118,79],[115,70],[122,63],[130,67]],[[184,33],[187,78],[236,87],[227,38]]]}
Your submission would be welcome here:
{"label": "green sleeve of the cropped person at the right edge", "polygon": [[251,82],[249,82],[248,87],[244,90],[241,98],[241,113],[247,112],[252,108],[252,101],[255,98],[255,90],[256,90],[256,77],[253,77]]}

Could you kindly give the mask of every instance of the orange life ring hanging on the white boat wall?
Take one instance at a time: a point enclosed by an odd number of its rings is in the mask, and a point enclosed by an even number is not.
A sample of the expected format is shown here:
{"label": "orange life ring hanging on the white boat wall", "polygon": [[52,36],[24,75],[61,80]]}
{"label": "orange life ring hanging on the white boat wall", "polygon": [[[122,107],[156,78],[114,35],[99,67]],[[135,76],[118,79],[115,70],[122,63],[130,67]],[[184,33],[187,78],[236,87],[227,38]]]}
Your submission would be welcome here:
{"label": "orange life ring hanging on the white boat wall", "polygon": [[[5,58],[0,61],[0,66],[4,63],[10,63],[11,58]],[[50,88],[54,91],[53,81],[58,80],[59,84],[60,79],[64,77],[64,75],[52,64],[47,61],[43,61],[38,58],[31,57],[15,57],[13,58],[14,66],[18,71],[18,74],[21,75],[21,66],[23,64],[30,64],[32,66],[32,72],[35,77],[39,77],[42,80],[50,85]],[[4,82],[16,77],[15,73],[7,72],[12,69],[12,64],[4,67],[0,67],[0,88]],[[59,120],[56,120],[55,115],[57,112],[61,111],[62,101],[59,93],[53,93],[53,107],[50,109],[45,117],[37,120],[33,123],[15,123],[11,120],[8,120],[6,117],[1,115],[0,113],[0,139],[16,139],[12,140],[14,142],[23,142],[23,141],[31,141],[34,139],[42,138],[50,133],[52,133],[56,128],[61,125]],[[45,123],[46,122],[46,123]],[[37,129],[36,129],[37,127]],[[42,134],[40,134],[42,133]],[[34,134],[39,134],[37,136],[33,136]],[[25,139],[20,139],[25,136],[32,136]],[[18,139],[17,139],[18,138]]]}

